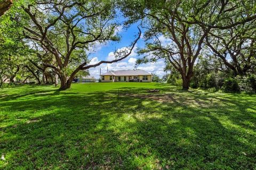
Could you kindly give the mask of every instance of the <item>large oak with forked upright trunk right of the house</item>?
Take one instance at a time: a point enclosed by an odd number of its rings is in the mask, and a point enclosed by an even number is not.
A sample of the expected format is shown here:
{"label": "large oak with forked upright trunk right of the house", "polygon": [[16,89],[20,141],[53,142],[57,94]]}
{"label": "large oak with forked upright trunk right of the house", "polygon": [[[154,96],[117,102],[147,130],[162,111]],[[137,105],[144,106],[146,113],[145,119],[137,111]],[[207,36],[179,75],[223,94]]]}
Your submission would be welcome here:
{"label": "large oak with forked upright trunk right of the house", "polygon": [[[147,29],[146,48],[140,51],[146,54],[144,61],[166,59],[180,72],[184,90],[189,88],[206,36],[212,29],[228,29],[255,20],[253,9],[249,9],[253,4],[229,0],[121,1],[130,22],[142,19]],[[163,37],[169,41],[161,42]]]}

